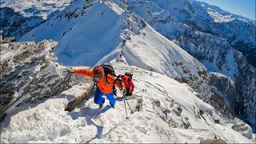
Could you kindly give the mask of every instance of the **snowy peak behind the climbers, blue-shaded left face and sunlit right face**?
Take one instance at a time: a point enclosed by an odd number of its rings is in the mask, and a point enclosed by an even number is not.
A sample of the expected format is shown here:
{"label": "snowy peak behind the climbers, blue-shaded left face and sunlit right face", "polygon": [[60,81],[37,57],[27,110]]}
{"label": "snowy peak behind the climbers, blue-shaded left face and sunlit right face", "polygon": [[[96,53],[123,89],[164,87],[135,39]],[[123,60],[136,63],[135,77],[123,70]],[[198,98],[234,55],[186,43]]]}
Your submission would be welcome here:
{"label": "snowy peak behind the climbers, blue-shaded left face and sunlit right face", "polygon": [[202,98],[210,97],[206,69],[200,62],[114,2],[73,2],[22,41],[44,38],[59,42],[58,62],[66,65],[126,62],[187,82]]}

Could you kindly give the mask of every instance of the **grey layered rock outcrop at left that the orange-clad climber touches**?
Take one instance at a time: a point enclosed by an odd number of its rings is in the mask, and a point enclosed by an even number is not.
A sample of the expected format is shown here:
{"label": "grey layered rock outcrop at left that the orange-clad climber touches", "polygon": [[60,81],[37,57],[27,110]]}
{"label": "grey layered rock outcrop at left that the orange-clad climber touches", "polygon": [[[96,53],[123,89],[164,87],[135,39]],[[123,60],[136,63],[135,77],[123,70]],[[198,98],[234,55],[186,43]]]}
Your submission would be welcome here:
{"label": "grey layered rock outcrop at left that the orange-clad climber touches", "polygon": [[72,74],[66,73],[66,66],[53,62],[57,58],[50,53],[57,42],[4,42],[2,36],[0,42],[1,117],[11,106],[36,102],[70,88]]}

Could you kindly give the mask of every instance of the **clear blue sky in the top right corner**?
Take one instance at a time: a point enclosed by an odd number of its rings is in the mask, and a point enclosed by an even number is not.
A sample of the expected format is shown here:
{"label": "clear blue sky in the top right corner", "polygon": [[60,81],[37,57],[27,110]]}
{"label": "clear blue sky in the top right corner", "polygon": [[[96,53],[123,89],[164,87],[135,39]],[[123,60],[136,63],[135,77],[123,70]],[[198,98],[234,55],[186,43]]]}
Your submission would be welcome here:
{"label": "clear blue sky in the top right corner", "polygon": [[218,6],[232,14],[239,14],[246,18],[255,20],[256,0],[197,0],[210,5]]}

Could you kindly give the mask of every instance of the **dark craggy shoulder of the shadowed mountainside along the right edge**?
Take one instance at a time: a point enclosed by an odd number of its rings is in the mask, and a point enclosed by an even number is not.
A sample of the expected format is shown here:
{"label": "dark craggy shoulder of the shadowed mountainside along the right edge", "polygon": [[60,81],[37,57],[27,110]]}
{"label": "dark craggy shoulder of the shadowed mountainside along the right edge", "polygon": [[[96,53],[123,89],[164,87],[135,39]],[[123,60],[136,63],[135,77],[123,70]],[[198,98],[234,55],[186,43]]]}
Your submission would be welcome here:
{"label": "dark craggy shoulder of the shadowed mountainside along the right edge", "polygon": [[208,70],[222,73],[221,77],[211,75],[210,85],[235,114],[255,127],[256,69],[242,53],[221,38],[192,30],[186,30],[177,43]]}

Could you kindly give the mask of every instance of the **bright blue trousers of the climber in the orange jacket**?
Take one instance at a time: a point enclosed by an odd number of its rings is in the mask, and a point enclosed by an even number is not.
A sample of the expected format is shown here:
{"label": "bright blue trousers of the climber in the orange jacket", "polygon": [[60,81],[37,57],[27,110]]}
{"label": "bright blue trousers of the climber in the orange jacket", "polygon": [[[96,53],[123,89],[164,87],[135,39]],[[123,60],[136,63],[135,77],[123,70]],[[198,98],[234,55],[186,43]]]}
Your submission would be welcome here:
{"label": "bright blue trousers of the climber in the orange jacket", "polygon": [[[103,94],[104,93],[102,93],[102,91],[99,90],[98,87],[97,87],[96,92],[95,92],[95,96],[94,96],[94,103],[96,103],[98,105],[102,104],[102,102],[104,100],[104,98],[102,97]],[[105,95],[106,95],[106,98],[109,99],[110,105],[114,106],[114,103],[115,103],[114,93],[112,92],[110,94],[105,94]]]}

